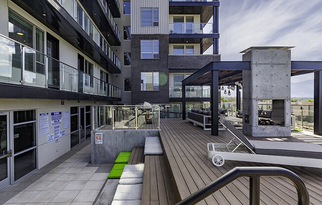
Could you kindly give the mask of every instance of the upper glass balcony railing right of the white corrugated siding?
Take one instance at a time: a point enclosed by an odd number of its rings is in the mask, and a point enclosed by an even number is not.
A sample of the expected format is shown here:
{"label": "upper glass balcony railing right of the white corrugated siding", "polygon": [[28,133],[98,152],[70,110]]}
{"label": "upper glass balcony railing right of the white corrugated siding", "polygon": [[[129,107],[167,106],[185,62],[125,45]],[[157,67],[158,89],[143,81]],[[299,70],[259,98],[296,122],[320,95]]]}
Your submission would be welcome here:
{"label": "upper glass balcony railing right of the white corrugated siding", "polygon": [[213,23],[169,23],[169,34],[212,34]]}

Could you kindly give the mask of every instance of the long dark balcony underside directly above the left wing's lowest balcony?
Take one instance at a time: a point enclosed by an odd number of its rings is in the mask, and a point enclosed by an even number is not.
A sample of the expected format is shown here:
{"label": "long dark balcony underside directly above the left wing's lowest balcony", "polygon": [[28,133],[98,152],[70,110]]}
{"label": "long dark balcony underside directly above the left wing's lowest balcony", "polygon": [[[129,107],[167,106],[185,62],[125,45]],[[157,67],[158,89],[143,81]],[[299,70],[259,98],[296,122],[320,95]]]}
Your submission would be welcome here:
{"label": "long dark balcony underside directly above the left wing's lowest balcony", "polygon": [[108,58],[56,0],[12,1],[102,68],[110,73],[121,73],[121,69]]}

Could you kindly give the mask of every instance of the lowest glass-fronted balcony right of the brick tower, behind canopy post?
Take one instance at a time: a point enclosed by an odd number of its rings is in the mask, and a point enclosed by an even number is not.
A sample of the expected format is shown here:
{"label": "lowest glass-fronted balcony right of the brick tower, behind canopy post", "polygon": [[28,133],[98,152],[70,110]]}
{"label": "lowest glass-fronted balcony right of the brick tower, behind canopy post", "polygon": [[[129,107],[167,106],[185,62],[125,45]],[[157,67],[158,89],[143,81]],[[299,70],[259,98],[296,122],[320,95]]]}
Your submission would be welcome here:
{"label": "lowest glass-fronted balcony right of the brick tower, behind canopy post", "polygon": [[[181,101],[182,87],[169,87],[170,101]],[[209,86],[186,86],[186,101],[210,101]]]}

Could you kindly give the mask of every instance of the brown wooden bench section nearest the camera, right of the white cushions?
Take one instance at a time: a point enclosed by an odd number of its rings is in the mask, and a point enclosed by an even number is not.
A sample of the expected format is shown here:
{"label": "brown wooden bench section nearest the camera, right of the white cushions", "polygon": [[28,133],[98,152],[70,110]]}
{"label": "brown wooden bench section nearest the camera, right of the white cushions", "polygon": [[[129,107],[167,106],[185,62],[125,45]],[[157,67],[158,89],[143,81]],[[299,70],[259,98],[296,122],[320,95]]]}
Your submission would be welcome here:
{"label": "brown wooden bench section nearest the camera, right of the white cushions", "polygon": [[146,155],[142,189],[142,205],[174,205],[179,201],[175,197],[173,178],[168,171],[163,155]]}

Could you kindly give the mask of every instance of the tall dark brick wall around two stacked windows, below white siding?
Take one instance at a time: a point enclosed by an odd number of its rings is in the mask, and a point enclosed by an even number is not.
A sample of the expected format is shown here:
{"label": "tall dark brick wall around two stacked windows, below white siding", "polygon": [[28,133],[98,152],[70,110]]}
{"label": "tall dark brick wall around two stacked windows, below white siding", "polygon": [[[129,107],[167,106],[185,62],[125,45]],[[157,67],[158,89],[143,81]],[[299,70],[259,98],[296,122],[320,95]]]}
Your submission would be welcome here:
{"label": "tall dark brick wall around two stacked windows, below white siding", "polygon": [[[159,59],[141,59],[141,40],[159,39]],[[132,104],[169,103],[169,35],[131,34]],[[159,91],[141,91],[141,72],[159,72]]]}

